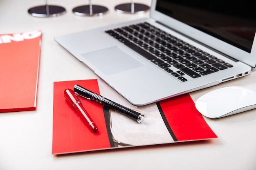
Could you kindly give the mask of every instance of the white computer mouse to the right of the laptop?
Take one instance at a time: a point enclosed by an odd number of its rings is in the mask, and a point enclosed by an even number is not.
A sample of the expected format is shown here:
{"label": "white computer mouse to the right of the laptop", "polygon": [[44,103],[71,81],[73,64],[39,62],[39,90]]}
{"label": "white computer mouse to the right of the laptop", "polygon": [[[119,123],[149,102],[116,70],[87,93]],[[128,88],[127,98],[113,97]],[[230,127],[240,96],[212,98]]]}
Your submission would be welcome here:
{"label": "white computer mouse to the right of the laptop", "polygon": [[202,95],[195,107],[209,118],[230,116],[256,108],[256,92],[242,86],[219,88]]}

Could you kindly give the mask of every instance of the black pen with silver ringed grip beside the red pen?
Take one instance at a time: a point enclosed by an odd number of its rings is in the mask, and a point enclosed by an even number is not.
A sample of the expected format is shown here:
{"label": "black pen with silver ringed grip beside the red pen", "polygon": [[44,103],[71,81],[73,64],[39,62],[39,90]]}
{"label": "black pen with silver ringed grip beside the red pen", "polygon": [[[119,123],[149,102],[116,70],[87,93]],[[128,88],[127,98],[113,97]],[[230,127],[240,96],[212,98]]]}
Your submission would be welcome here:
{"label": "black pen with silver ringed grip beside the red pen", "polygon": [[98,95],[97,93],[93,93],[87,90],[86,88],[79,86],[78,84],[74,85],[74,92],[86,99],[93,100],[94,102],[102,104],[103,106],[108,106],[113,110],[116,110],[117,112],[125,115],[126,117],[129,117],[130,119],[137,121],[138,123],[143,122],[145,119],[144,114],[135,112],[134,110],[131,110],[120,104],[117,104],[109,99],[106,99],[101,95]]}

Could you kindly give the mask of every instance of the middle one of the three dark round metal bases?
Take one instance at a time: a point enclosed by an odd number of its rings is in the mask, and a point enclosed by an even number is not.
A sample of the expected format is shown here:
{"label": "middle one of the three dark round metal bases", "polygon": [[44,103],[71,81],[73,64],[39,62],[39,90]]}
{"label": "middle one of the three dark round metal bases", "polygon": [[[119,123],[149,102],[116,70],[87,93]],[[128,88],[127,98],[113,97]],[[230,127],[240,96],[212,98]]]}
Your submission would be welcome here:
{"label": "middle one of the three dark round metal bases", "polygon": [[99,5],[92,5],[92,9],[90,10],[90,5],[83,5],[75,7],[72,11],[75,15],[79,16],[100,16],[108,12],[108,8]]}

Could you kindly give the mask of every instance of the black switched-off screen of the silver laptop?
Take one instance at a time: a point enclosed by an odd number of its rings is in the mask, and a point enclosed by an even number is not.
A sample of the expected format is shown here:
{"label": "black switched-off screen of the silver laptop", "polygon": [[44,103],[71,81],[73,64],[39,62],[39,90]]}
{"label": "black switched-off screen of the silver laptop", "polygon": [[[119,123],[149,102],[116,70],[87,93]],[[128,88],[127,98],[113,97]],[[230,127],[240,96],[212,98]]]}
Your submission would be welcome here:
{"label": "black switched-off screen of the silver laptop", "polygon": [[247,0],[157,0],[156,11],[251,52],[256,13]]}

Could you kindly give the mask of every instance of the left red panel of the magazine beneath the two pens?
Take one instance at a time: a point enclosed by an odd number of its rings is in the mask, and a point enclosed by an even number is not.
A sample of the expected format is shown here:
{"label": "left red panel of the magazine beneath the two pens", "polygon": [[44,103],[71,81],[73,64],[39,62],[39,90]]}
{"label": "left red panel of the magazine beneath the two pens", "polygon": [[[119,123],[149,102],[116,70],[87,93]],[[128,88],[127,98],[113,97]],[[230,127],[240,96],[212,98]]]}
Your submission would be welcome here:
{"label": "left red panel of the magazine beneath the two pens", "polygon": [[79,97],[92,120],[95,123],[97,122],[99,130],[97,133],[92,133],[64,97],[64,90],[66,88],[73,90],[75,84],[86,86],[88,90],[99,94],[97,79],[54,82],[52,143],[52,153],[54,154],[110,147],[102,106],[96,102]]}

